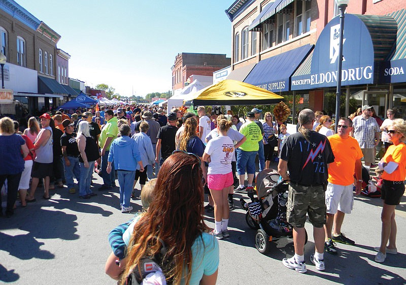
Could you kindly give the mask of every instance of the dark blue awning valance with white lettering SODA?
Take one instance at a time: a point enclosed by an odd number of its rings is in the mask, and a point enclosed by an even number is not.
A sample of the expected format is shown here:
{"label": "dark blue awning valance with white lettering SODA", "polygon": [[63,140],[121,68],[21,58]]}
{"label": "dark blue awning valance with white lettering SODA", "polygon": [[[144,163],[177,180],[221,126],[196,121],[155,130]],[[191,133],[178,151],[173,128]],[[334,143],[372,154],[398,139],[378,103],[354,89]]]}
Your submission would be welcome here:
{"label": "dark blue awning valance with white lettering SODA", "polygon": [[379,77],[379,83],[406,82],[406,58],[382,62]]}

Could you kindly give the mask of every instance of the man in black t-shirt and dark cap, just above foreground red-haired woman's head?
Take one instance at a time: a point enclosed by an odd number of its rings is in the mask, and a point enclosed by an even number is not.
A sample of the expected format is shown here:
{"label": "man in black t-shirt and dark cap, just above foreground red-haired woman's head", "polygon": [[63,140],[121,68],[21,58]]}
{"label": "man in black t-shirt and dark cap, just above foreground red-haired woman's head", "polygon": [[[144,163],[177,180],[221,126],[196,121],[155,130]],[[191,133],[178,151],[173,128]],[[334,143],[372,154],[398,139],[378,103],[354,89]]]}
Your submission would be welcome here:
{"label": "man in black t-shirt and dark cap, just above foreground red-haired woman's head", "polygon": [[[158,142],[156,143],[156,153],[155,163],[162,163],[172,154],[176,149],[175,147],[175,136],[178,128],[176,128],[176,113],[169,113],[167,116],[168,124],[161,126],[158,131],[156,138]],[[158,154],[161,151],[161,160],[158,161]]]}

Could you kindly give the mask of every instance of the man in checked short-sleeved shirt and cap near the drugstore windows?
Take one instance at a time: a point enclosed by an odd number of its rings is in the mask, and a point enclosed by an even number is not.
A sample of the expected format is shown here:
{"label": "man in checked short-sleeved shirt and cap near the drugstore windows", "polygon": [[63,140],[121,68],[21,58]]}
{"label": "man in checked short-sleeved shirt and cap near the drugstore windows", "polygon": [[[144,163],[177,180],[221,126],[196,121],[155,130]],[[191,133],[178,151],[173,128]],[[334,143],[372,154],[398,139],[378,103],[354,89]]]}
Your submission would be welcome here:
{"label": "man in checked short-sleeved shirt and cap near the drugstore windows", "polygon": [[358,141],[364,154],[365,167],[369,171],[369,167],[375,162],[376,146],[380,141],[379,133],[381,130],[377,121],[371,116],[371,107],[364,105],[361,110],[362,114],[353,120],[352,136]]}

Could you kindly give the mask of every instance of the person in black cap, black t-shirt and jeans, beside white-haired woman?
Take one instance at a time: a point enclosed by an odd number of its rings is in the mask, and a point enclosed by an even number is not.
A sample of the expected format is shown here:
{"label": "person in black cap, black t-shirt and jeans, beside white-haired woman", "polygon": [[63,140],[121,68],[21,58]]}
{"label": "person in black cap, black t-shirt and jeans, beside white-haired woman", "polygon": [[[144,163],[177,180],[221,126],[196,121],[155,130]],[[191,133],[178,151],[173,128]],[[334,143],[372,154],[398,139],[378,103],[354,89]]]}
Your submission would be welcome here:
{"label": "person in black cap, black t-shirt and jeans, beside white-haired woman", "polygon": [[62,155],[65,162],[66,185],[69,193],[75,194],[76,189],[73,175],[75,175],[78,183],[80,177],[79,149],[76,142],[76,133],[73,132],[75,126],[69,119],[63,120],[62,125],[65,133],[60,137],[60,145],[62,146]]}

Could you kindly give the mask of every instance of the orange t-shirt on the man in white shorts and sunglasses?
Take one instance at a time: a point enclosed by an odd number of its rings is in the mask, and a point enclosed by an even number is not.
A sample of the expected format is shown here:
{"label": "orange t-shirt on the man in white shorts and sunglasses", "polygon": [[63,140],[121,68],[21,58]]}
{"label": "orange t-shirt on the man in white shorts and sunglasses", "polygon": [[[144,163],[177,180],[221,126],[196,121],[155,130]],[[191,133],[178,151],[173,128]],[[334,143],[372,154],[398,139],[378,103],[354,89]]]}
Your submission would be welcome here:
{"label": "orange t-shirt on the man in white shorts and sunglasses", "polygon": [[356,139],[342,139],[338,134],[327,137],[334,154],[328,167],[328,182],[337,185],[354,183],[355,162],[363,156]]}

